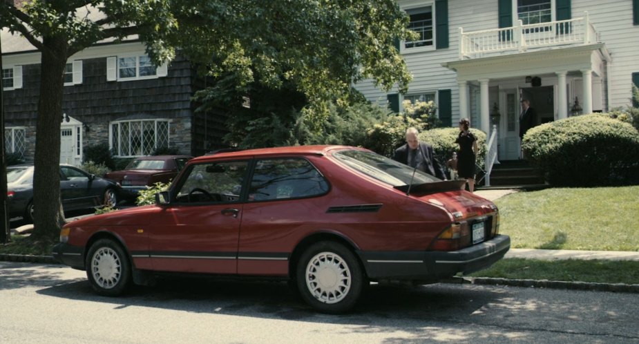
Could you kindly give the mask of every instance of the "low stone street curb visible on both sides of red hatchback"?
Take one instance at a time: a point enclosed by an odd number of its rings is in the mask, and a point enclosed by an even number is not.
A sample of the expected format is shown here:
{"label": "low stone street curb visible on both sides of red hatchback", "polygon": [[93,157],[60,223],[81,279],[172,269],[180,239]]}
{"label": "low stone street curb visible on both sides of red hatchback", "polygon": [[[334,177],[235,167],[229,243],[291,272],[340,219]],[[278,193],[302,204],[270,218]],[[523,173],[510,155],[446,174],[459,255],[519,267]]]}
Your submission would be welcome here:
{"label": "low stone street curb visible on both sides of red hatchback", "polygon": [[[0,260],[9,262],[35,262],[43,264],[61,265],[53,256],[30,256],[24,254],[0,254]],[[442,280],[441,283],[470,284],[470,285],[504,285],[508,287],[545,288],[590,290],[593,292],[616,292],[639,294],[639,285],[627,285],[623,283],[591,283],[591,282],[566,282],[561,280],[513,280],[508,278],[492,277],[453,277]]]}

